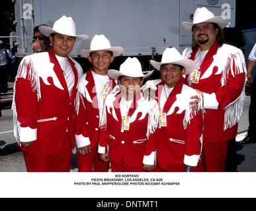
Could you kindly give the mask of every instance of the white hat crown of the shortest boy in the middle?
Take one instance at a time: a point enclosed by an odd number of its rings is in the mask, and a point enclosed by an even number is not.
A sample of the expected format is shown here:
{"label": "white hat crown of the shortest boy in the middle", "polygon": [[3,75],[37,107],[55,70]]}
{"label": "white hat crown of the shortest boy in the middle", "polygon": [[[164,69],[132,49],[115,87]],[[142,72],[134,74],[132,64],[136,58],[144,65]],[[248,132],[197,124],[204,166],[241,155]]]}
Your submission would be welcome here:
{"label": "white hat crown of the shortest boy in the middle", "polygon": [[131,77],[142,75],[142,65],[136,57],[128,57],[126,61],[120,65],[120,73]]}

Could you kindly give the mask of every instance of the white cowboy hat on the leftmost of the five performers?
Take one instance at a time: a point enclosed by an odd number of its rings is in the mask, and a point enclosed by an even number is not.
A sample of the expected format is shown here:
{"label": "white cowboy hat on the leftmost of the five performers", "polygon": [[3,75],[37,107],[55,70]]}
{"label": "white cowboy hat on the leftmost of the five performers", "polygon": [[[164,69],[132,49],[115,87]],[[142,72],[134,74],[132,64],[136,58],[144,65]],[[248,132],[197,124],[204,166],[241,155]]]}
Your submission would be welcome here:
{"label": "white cowboy hat on the leftmost of the five performers", "polygon": [[75,34],[75,22],[70,16],[62,16],[60,19],[54,22],[52,28],[48,26],[39,26],[38,28],[44,36],[49,36],[52,33],[64,34],[67,36],[75,37],[75,40],[86,40],[89,36],[87,34],[76,35]]}

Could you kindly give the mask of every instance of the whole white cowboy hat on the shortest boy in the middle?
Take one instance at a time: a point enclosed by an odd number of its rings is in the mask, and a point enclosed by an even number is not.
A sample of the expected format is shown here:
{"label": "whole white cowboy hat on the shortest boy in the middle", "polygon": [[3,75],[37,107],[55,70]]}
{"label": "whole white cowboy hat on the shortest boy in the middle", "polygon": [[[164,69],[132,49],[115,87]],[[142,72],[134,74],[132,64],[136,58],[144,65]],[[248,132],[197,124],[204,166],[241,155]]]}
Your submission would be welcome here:
{"label": "whole white cowboy hat on the shortest boy in the middle", "polygon": [[108,70],[108,76],[113,79],[117,79],[119,76],[128,76],[128,77],[134,77],[134,78],[146,78],[149,75],[153,73],[153,71],[150,71],[148,74],[144,75],[142,73],[142,65],[140,64],[140,61],[134,57],[128,57],[122,65],[120,65],[120,70]]}

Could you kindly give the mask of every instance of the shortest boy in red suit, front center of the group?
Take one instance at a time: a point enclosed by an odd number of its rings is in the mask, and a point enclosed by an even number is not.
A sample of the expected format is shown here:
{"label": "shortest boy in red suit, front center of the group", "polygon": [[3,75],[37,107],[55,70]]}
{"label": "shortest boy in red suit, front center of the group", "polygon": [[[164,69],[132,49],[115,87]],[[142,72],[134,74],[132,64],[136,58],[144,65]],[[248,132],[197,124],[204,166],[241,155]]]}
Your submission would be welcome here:
{"label": "shortest boy in red suit, front center of the group", "polygon": [[151,73],[144,75],[135,57],[128,57],[120,65],[120,71],[108,71],[108,76],[118,80],[120,90],[107,96],[98,152],[103,162],[110,160],[112,171],[154,168],[153,131],[157,127],[158,105],[155,100],[144,100],[140,90],[143,78]]}

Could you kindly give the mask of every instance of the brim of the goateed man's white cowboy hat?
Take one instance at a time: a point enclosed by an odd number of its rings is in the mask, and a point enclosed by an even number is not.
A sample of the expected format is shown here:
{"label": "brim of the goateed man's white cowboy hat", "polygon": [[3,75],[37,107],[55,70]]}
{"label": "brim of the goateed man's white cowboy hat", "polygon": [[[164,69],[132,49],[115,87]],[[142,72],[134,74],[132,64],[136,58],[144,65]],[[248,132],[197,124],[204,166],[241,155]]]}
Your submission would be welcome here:
{"label": "brim of the goateed man's white cowboy hat", "polygon": [[192,31],[192,26],[196,25],[196,24],[200,24],[203,22],[211,22],[214,24],[218,24],[218,26],[220,26],[220,28],[225,28],[226,26],[228,26],[229,20],[228,19],[223,19],[222,16],[215,16],[214,18],[210,18],[207,20],[204,20],[202,22],[187,22],[187,21],[183,21],[181,22],[181,26],[183,26],[183,28],[185,28],[185,30],[188,31]]}

